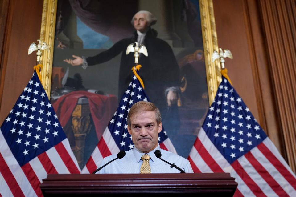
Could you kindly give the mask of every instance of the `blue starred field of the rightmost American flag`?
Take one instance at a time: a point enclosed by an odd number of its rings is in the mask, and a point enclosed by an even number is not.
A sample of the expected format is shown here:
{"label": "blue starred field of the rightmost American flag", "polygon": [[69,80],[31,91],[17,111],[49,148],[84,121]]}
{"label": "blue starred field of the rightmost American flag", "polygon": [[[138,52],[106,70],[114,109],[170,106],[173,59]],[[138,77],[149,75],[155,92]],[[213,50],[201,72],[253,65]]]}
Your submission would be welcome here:
{"label": "blue starred field of the rightmost American flag", "polygon": [[[240,152],[244,152],[247,147],[253,147],[254,140],[257,141],[262,139],[258,137],[259,134],[256,135],[250,131],[253,125],[252,122],[249,122],[252,119],[251,115],[248,114],[244,118],[242,114],[242,112],[249,113],[249,108],[245,106],[242,99],[238,97],[233,88],[228,87],[227,80],[224,81],[224,83],[225,84],[219,86],[215,101],[209,108],[204,124],[210,131],[209,134],[211,133],[211,135],[208,136],[213,142],[219,140],[221,148],[236,150],[235,152],[232,152],[232,155],[230,155],[231,153],[228,155],[229,161],[233,161],[233,159],[241,156]],[[220,120],[222,120],[222,123],[224,124],[221,125]],[[212,128],[212,125],[215,126]],[[253,128],[255,131],[260,130],[258,125],[254,125]],[[241,136],[240,138],[236,138],[235,135],[231,135],[229,138],[227,137],[227,132],[235,134],[237,132],[236,130],[238,131],[237,135]],[[244,134],[244,131],[250,132]],[[219,135],[220,133],[221,135]],[[239,144],[241,144],[241,146],[239,146]]]}

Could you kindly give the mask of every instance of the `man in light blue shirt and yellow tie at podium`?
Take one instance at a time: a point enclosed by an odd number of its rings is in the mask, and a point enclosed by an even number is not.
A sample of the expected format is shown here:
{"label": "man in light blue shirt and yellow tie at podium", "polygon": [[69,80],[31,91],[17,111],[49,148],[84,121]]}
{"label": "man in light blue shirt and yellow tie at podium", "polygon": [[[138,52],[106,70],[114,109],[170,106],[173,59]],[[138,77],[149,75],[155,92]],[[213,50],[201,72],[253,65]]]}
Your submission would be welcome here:
{"label": "man in light blue shirt and yellow tie at podium", "polygon": [[[180,173],[182,170],[186,173],[193,173],[187,159],[160,148],[158,133],[162,130],[161,115],[153,103],[147,101],[135,103],[130,108],[127,123],[128,132],[134,142],[134,149],[126,151],[123,158],[114,160],[97,173]],[[117,156],[105,157],[100,166]],[[173,163],[179,170],[172,168],[163,160]]]}

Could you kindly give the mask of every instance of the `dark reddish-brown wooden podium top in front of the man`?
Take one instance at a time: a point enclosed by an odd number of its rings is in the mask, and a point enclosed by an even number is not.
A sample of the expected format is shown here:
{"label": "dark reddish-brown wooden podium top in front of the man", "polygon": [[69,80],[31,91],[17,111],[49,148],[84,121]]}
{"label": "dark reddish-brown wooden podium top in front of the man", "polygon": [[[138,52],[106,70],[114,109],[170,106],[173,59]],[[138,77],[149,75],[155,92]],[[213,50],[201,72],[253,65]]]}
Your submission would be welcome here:
{"label": "dark reddish-brown wooden podium top in front of the man", "polygon": [[229,173],[182,174],[49,174],[40,188],[44,196],[126,193],[198,193],[233,196],[237,187]]}

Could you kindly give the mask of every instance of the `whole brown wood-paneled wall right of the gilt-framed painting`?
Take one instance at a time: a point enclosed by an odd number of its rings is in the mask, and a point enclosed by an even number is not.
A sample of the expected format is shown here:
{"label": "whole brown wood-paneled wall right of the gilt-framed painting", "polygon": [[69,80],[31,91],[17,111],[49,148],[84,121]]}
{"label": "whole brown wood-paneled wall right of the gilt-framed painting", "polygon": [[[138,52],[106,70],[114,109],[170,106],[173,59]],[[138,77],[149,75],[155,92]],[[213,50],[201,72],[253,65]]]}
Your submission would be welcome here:
{"label": "whole brown wood-paneled wall right of the gilt-framed painting", "polygon": [[295,1],[213,0],[233,86],[295,172]]}

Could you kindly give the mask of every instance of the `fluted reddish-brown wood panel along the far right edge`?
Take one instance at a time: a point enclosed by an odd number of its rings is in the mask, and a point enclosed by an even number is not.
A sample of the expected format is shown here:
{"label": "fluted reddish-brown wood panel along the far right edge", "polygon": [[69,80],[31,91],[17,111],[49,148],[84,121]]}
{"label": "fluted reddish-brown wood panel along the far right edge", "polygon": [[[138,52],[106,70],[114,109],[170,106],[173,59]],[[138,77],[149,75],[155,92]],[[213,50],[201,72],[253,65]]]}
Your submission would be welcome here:
{"label": "fluted reddish-brown wood panel along the far right edge", "polygon": [[295,1],[261,0],[260,5],[287,160],[295,172]]}

